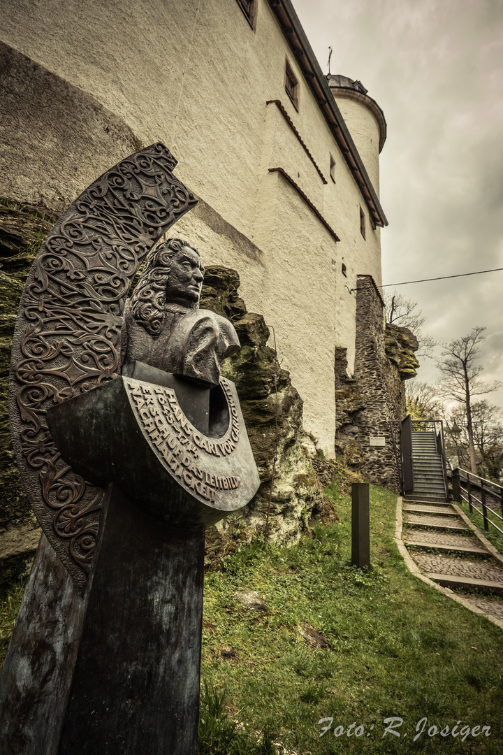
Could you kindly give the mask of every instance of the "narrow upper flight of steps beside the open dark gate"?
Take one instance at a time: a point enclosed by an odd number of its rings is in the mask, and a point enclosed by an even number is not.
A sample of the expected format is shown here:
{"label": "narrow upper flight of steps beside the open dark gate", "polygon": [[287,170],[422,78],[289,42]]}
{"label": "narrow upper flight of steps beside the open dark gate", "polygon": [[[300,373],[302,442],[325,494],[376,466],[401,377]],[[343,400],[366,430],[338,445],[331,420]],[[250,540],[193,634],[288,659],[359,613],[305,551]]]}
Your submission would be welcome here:
{"label": "narrow upper flight of steps beside the open dark gate", "polygon": [[437,453],[434,432],[413,432],[414,488],[407,493],[411,501],[447,501],[442,457]]}

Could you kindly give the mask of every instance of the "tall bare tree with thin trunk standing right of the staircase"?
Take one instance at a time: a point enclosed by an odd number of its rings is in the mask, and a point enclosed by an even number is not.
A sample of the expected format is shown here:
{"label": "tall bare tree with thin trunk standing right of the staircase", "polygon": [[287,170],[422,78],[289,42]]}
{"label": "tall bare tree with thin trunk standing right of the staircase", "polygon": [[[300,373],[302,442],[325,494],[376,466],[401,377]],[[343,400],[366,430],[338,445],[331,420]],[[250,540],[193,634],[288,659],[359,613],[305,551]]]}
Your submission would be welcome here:
{"label": "tall bare tree with thin trunk standing right of the staircase", "polygon": [[441,396],[448,401],[455,401],[463,405],[466,417],[466,433],[468,436],[468,452],[470,455],[470,467],[477,474],[477,453],[474,442],[474,416],[472,399],[484,393],[492,393],[497,390],[501,383],[483,383],[480,378],[482,365],[477,364],[479,347],[484,341],[483,331],[486,328],[474,328],[468,335],[443,344],[442,360],[437,362],[442,377],[438,381],[438,390]]}

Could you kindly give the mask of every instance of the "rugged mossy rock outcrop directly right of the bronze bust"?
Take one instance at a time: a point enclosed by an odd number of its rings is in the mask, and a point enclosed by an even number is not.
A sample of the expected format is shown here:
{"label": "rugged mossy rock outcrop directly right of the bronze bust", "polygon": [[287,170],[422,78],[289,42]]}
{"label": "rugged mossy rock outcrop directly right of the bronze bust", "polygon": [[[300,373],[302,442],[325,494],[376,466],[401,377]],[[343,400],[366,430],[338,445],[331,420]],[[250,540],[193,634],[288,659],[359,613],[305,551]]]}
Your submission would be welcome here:
{"label": "rugged mossy rock outcrop directly right of the bronze bust", "polygon": [[[268,535],[279,543],[293,543],[307,529],[312,513],[323,510],[323,491],[305,450],[302,399],[290,374],[278,365],[275,351],[266,345],[269,329],[264,318],[247,312],[238,296],[239,285],[235,270],[207,267],[201,294],[201,307],[232,320],[241,342],[238,353],[223,363],[222,374],[236,384],[261,480],[259,491],[241,516],[236,544],[240,538],[263,531],[273,467]],[[232,518],[217,527],[224,540],[232,538],[236,529]],[[209,531],[207,539],[214,547],[215,533]]]}

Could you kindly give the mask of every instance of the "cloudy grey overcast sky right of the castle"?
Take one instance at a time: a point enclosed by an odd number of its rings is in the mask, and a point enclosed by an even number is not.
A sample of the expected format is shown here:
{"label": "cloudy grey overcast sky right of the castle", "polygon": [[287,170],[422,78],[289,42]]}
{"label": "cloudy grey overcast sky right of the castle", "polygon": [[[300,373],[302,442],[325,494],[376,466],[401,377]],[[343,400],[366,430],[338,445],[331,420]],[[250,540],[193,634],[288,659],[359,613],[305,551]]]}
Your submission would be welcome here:
{"label": "cloudy grey overcast sky right of the castle", "polygon": [[[323,72],[332,45],[330,72],[385,113],[383,283],[503,267],[503,0],[293,5]],[[483,377],[503,377],[503,271],[397,290],[437,341],[486,326]],[[437,376],[424,361],[419,379]],[[486,398],[503,406],[503,390]]]}

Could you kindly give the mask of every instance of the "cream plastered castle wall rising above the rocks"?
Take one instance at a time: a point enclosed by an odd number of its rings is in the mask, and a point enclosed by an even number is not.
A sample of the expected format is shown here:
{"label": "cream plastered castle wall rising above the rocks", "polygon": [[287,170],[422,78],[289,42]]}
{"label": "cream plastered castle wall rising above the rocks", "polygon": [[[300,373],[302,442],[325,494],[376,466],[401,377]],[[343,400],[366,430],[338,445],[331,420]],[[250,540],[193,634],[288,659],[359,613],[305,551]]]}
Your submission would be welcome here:
{"label": "cream plastered castle wall rising above the rocks", "polygon": [[[382,282],[380,229],[278,17],[267,0],[257,2],[252,29],[237,0],[2,0],[0,37],[94,97],[143,145],[162,141],[173,152],[176,175],[202,201],[172,235],[195,245],[205,264],[238,270],[248,309],[275,328],[305,429],[333,457],[334,348],[348,349],[351,370],[350,291],[357,275]],[[286,60],[299,82],[298,111],[284,88]],[[376,117],[364,96],[337,99],[379,196]],[[41,149],[50,139],[44,134]],[[339,242],[271,168],[288,174]],[[75,187],[84,190],[88,178],[82,171]]]}

